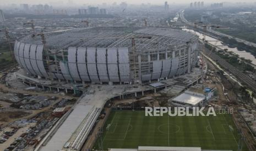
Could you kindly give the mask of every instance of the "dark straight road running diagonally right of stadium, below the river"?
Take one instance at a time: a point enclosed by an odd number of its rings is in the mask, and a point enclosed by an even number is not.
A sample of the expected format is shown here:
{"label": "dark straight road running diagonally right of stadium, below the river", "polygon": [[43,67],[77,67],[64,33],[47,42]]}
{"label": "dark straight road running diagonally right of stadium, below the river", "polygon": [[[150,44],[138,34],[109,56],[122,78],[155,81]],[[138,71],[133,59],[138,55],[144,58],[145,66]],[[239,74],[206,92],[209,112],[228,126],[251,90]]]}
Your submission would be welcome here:
{"label": "dark straight road running diagonally right of stadium, below the river", "polygon": [[[210,55],[208,55],[210,54]],[[220,64],[223,68],[225,68],[228,72],[235,75],[242,83],[246,84],[248,88],[252,89],[252,91],[256,92],[256,82],[250,78],[248,75],[244,74],[243,72],[239,71],[236,67],[230,65],[230,63],[226,62],[220,56],[216,55],[215,53],[210,53],[209,50],[205,50],[205,55],[210,57],[211,59],[215,60],[217,63]]]}

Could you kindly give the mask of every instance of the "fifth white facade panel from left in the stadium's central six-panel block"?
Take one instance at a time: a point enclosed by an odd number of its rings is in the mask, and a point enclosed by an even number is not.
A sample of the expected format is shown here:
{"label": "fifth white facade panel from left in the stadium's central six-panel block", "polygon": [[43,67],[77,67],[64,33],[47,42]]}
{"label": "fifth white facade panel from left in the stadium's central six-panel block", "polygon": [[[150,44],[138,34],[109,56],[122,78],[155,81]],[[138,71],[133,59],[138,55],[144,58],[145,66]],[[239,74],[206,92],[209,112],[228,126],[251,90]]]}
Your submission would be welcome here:
{"label": "fifth white facade panel from left in the stadium's central six-panel block", "polygon": [[117,48],[107,49],[107,68],[111,82],[119,82],[117,67]]}

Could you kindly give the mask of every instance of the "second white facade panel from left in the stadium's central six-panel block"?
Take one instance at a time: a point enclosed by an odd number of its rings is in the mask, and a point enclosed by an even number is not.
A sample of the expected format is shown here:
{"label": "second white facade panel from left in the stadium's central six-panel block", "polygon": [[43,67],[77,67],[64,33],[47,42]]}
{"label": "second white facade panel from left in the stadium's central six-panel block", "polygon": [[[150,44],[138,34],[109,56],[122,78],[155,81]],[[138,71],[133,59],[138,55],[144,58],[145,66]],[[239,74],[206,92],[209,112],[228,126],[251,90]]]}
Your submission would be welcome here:
{"label": "second white facade panel from left in the stadium's central six-panel block", "polygon": [[86,48],[78,48],[77,50],[78,71],[81,79],[85,82],[89,82],[90,79],[86,69],[85,53],[86,53]]}

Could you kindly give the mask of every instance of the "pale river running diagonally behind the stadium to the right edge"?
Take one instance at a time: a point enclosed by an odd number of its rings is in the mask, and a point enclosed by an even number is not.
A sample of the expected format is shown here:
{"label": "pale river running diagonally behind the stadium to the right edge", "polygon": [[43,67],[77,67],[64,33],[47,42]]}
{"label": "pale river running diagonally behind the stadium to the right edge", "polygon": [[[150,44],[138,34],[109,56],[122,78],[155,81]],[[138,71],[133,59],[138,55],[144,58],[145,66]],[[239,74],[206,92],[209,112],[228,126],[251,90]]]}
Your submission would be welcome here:
{"label": "pale river running diagonally behind the stadium to the right edge", "polygon": [[[193,30],[190,30],[188,28],[183,28],[182,30],[194,33]],[[200,39],[203,39],[203,34],[201,34],[199,32],[196,32],[196,34],[199,36]],[[230,48],[228,46],[223,46],[223,44],[222,44],[222,42],[220,40],[217,40],[217,39],[209,37],[209,36],[205,36],[205,40],[208,40],[210,44],[213,44],[213,45],[215,45],[215,46],[217,46],[217,47],[219,47],[221,49],[227,49],[227,51],[233,51],[233,53],[239,55],[239,57],[244,57],[245,59],[252,60],[252,63],[254,65],[256,65],[255,57],[252,54],[250,54],[250,53],[248,53],[248,52],[246,52],[244,50],[243,51],[239,51],[239,50],[237,50],[237,48]]]}

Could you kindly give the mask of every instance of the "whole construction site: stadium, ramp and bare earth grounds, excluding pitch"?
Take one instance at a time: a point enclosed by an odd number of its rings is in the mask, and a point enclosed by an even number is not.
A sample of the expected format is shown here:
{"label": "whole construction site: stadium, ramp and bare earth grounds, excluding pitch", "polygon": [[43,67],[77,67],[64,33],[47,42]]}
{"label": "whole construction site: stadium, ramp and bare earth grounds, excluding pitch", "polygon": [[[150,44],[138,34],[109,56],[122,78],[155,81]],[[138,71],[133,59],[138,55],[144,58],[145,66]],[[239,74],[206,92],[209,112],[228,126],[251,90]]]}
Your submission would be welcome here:
{"label": "whole construction site: stadium, ramp and bare earth grounds, excluding pitch", "polygon": [[[232,78],[223,80],[214,61],[199,57],[202,49],[193,33],[157,27],[86,27],[17,39],[18,65],[3,72],[1,84],[1,149],[96,149],[112,109],[173,106],[168,100],[189,88],[216,89],[200,106],[236,108]],[[253,132],[233,117],[250,139]]]}

